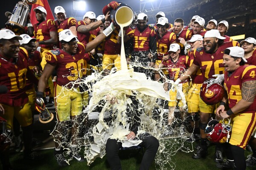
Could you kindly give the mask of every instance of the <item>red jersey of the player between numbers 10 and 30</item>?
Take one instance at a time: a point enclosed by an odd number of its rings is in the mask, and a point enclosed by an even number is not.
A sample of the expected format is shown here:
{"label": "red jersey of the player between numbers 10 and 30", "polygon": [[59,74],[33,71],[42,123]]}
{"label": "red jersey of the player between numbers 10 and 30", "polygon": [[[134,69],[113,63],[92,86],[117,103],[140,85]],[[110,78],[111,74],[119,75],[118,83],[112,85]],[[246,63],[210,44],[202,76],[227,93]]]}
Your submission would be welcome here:
{"label": "red jersey of the player between numbers 10 and 30", "polygon": [[[40,65],[41,61],[42,61],[42,58],[41,58],[40,52],[35,51],[34,55],[29,55],[28,66],[31,72],[33,72],[33,68],[35,68],[35,66],[41,67]],[[26,79],[26,89],[31,89],[33,86],[34,84],[29,79]]]}

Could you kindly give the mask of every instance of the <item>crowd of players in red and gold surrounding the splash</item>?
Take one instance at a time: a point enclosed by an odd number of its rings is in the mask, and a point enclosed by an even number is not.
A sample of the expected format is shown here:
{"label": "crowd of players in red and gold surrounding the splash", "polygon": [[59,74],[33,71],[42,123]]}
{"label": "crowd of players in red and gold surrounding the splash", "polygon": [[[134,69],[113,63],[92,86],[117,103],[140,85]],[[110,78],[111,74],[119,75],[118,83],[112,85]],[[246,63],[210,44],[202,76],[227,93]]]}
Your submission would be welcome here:
{"label": "crowd of players in red and gold surrounding the splash", "polygon": [[[23,131],[25,158],[40,157],[31,147],[32,112],[35,109],[42,114],[48,112],[44,106],[40,105],[42,102],[47,107],[54,104],[56,107],[58,122],[57,130],[54,133],[54,156],[58,164],[60,166],[68,165],[61,145],[65,143],[66,139],[63,136],[67,134],[70,122],[72,135],[69,139],[71,141],[69,156],[74,157],[77,161],[85,161],[78,154],[81,148],[76,147],[79,135],[79,121],[77,120],[83,107],[88,104],[89,95],[85,86],[78,84],[73,86],[72,82],[86,78],[94,70],[102,70],[103,76],[106,76],[109,75],[113,67],[117,70],[121,69],[121,31],[120,27],[110,20],[109,14],[118,6],[120,6],[119,3],[112,1],[103,8],[104,15],[96,17],[94,12],[86,12],[83,16],[84,19],[80,21],[73,17],[67,18],[62,6],[56,6],[54,9],[57,20],[46,20],[46,10],[44,7],[38,6],[32,9],[35,11],[38,23],[32,26],[28,22],[26,34],[15,35],[9,29],[0,31],[0,84],[8,88],[8,92],[0,94],[0,116],[3,117],[2,122],[6,121],[6,129],[9,130],[4,132],[7,138],[12,137],[10,130],[15,128],[13,122],[18,121],[20,124]],[[6,12],[8,20],[11,15],[12,13]],[[201,85],[209,78],[214,78],[220,84],[223,83],[225,70],[230,70],[228,71],[230,75],[225,74],[225,86],[228,84],[227,81],[232,80],[230,76],[236,68],[229,65],[230,59],[225,55],[236,57],[235,60],[240,62],[236,65],[255,66],[256,40],[253,37],[248,37],[238,43],[225,35],[229,29],[227,21],[222,20],[218,23],[212,19],[208,21],[205,28],[205,20],[197,15],[192,17],[188,26],[184,26],[182,18],[177,18],[173,24],[169,23],[164,12],[156,14],[156,23],[148,24],[147,22],[147,14],[135,14],[132,24],[124,29],[127,63],[134,65],[135,72],[143,72],[154,81],[166,82],[164,84],[166,91],[169,90],[168,82],[170,80],[174,81],[174,85],[177,85],[179,89],[182,89],[188,110],[182,107],[181,96],[177,94],[174,87],[171,87],[171,101],[168,102],[168,126],[162,136],[172,135],[171,129],[175,126],[174,110],[178,106],[182,120],[190,122],[193,129],[193,134],[187,141],[200,140],[200,145],[193,158],[205,157],[208,139],[204,130],[217,107],[216,117],[226,118],[223,115],[223,105],[227,104],[227,100],[221,101],[220,107],[205,104],[199,95]],[[235,46],[241,46],[241,48],[236,49]],[[243,54],[238,55],[241,50],[243,50]],[[244,77],[241,79],[242,83],[256,81],[254,79],[256,67],[254,66],[243,67],[240,70],[241,77]],[[155,69],[156,72],[146,69],[149,67]],[[56,85],[53,87],[54,76]],[[253,84],[247,85],[249,85],[247,86],[248,94],[255,93],[254,87],[250,87]],[[229,94],[225,99],[229,99],[229,104],[232,103],[232,100],[235,100],[236,104],[244,99],[241,84],[231,84],[230,89],[227,89]],[[45,97],[47,94],[50,94],[49,101]],[[249,101],[253,103],[254,97]],[[250,109],[229,109],[227,111],[227,115],[235,115],[242,111],[244,111],[242,113],[254,113],[250,115],[252,121],[249,121],[246,126],[250,127],[250,132],[234,132],[237,133],[239,139],[243,139],[242,141],[231,138],[230,145],[227,147],[216,145],[217,167],[242,170],[245,169],[245,164],[247,166],[256,164],[256,141],[253,140],[253,136],[250,138],[255,129],[256,108],[250,107],[252,105],[245,104]],[[238,122],[234,127],[239,129],[244,125],[246,124]],[[135,135],[136,133],[132,132],[127,138],[134,138]],[[2,147],[0,155],[3,169],[11,169],[9,163],[10,142],[7,141]],[[245,162],[244,148],[248,143],[253,150],[253,155],[250,155]],[[154,148],[156,149],[156,146]],[[223,148],[230,149],[232,152],[225,151]],[[227,155],[227,161],[223,161],[223,152]],[[232,154],[228,155],[227,153]]]}

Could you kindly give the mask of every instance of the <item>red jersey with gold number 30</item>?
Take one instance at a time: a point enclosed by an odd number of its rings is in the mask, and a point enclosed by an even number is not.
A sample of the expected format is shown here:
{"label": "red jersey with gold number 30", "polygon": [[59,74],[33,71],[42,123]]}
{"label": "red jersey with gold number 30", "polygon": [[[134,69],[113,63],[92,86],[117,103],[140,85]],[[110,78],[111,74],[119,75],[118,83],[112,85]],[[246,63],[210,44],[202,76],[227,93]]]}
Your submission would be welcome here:
{"label": "red jersey with gold number 30", "polygon": [[77,53],[75,55],[70,55],[62,49],[55,49],[46,53],[46,62],[56,66],[56,83],[59,86],[65,86],[71,81],[82,78],[85,46],[79,42],[77,45]]}

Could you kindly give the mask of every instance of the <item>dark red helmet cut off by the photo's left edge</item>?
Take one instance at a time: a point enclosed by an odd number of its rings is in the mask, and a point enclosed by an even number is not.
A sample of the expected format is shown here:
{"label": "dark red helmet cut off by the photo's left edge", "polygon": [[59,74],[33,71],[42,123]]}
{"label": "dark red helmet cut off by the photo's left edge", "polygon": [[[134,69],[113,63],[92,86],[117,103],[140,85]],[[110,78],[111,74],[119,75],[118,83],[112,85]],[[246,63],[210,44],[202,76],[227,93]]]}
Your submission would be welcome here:
{"label": "dark red helmet cut off by the photo's left edge", "polygon": [[11,144],[12,131],[6,129],[6,120],[0,116],[0,151],[3,151]]}

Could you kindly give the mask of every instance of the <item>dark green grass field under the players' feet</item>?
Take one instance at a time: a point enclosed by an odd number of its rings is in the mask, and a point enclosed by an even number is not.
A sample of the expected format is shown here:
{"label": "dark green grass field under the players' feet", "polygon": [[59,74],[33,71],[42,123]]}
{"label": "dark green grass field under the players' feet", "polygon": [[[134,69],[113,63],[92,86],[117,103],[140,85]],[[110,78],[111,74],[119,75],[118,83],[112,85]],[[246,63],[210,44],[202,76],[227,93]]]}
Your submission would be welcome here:
{"label": "dark green grass field under the players' feet", "polygon": [[[172,140],[173,139],[168,139]],[[174,141],[175,142],[175,141]],[[185,144],[192,150],[192,145],[190,143]],[[193,143],[193,146],[196,143]],[[179,144],[175,144],[172,147],[179,147]],[[214,151],[215,145],[211,144],[208,149],[208,156],[201,159],[193,159],[191,156],[193,152],[182,152],[177,151],[174,156],[171,156],[171,161],[165,164],[165,170],[218,170],[215,167],[214,162]],[[90,165],[87,165],[87,162],[77,162],[76,160],[70,161],[70,166],[60,167],[54,156],[53,149],[47,150],[38,150],[41,153],[41,160],[39,161],[30,161],[23,159],[23,152],[12,153],[11,154],[11,164],[14,169],[18,170],[110,170],[109,165],[106,160],[106,156],[101,158],[96,158],[96,160]],[[248,151],[245,151],[245,155],[249,155]],[[142,151],[138,150],[123,150],[120,151],[121,164],[123,170],[138,170]],[[168,165],[169,164],[169,165]],[[158,165],[153,162],[150,167],[150,170],[159,170],[161,169]],[[247,167],[247,170],[256,170],[256,165],[254,167]]]}

